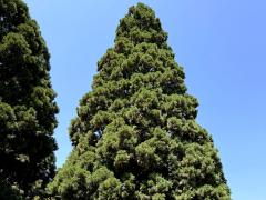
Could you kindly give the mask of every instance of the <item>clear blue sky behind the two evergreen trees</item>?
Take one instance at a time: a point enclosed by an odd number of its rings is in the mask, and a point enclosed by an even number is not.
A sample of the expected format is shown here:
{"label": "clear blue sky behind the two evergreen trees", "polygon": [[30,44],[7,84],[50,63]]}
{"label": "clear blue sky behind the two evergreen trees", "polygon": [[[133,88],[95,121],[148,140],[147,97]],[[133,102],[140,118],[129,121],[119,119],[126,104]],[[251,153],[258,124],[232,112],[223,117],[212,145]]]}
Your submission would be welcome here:
{"label": "clear blue sky behind the two evergreen trees", "polygon": [[[113,46],[135,0],[25,0],[51,53],[60,107],[57,164],[71,151],[70,120],[91,90],[96,61]],[[234,200],[266,199],[266,1],[144,0],[168,32],[197,121],[214,138]]]}

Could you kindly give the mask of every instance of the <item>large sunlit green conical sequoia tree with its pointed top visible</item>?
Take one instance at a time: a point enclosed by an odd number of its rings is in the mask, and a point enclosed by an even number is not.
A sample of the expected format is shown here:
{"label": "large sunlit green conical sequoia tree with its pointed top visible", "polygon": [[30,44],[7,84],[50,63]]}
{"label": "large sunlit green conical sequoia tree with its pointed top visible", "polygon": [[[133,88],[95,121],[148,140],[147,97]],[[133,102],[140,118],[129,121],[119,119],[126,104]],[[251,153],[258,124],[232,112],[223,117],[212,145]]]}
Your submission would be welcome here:
{"label": "large sunlit green conical sequoia tree with its pointed top visible", "polygon": [[166,40],[151,8],[130,8],[80,101],[70,128],[74,149],[49,186],[52,194],[231,199],[213,140],[195,122],[197,100],[186,92]]}

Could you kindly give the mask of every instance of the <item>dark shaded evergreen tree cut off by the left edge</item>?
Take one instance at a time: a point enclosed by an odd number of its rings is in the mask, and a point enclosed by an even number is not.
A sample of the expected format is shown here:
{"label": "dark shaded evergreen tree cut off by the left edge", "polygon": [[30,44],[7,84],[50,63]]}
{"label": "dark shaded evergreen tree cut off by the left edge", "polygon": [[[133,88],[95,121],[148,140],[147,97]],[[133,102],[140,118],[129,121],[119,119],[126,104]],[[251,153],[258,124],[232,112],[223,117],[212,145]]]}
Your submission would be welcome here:
{"label": "dark shaded evergreen tree cut off by the left edge", "polygon": [[33,199],[54,176],[58,107],[49,70],[27,6],[0,0],[0,199],[10,199],[4,193],[14,188]]}

